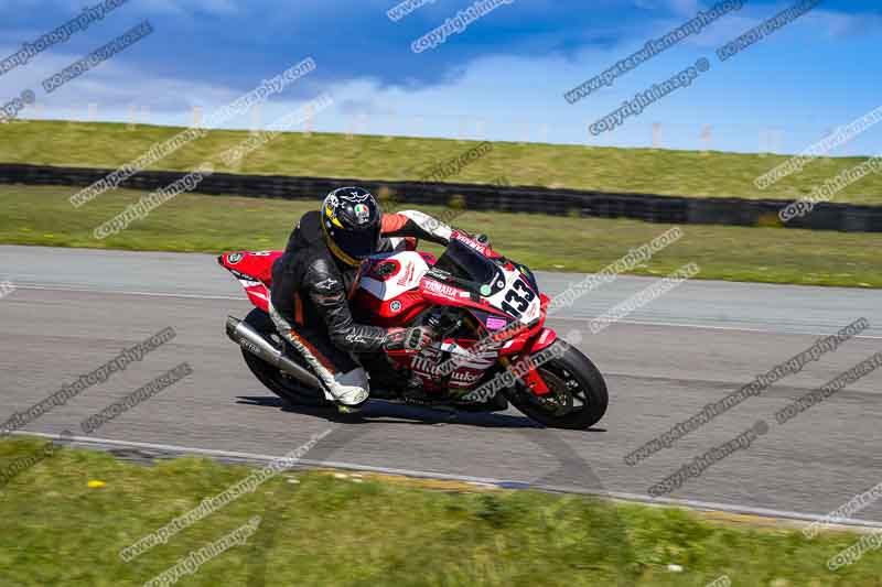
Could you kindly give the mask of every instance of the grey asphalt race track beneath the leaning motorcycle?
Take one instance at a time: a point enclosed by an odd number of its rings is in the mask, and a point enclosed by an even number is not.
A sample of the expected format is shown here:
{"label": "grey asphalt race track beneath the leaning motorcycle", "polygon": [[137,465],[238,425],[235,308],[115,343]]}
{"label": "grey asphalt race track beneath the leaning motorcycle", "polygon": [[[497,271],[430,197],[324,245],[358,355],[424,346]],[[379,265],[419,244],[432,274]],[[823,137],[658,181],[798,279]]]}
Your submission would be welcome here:
{"label": "grey asphalt race track beneath the leaning motorcycle", "polygon": [[[286,411],[245,368],[224,335],[227,314],[250,304],[213,256],[0,247],[0,417],[96,369],[166,326],[178,336],[24,430],[57,434],[182,361],[193,374],[106,424],[96,437],[192,449],[280,456],[333,432],[306,459],[536,483],[647,498],[647,489],[754,422],[770,423],[747,449],[689,479],[671,497],[744,511],[822,515],[882,482],[882,373],[873,372],[784,426],[773,414],[882,350],[882,293],[693,281],[591,335],[588,320],[654,280],[620,278],[558,313],[559,333],[581,329],[581,348],[606,377],[611,407],[588,432],[538,427],[516,411],[449,414],[373,402],[361,420]],[[549,295],[579,275],[540,273]],[[623,457],[710,401],[749,383],[859,317],[871,328],[760,396],[648,459]],[[127,446],[125,443],[117,446]],[[150,453],[144,447],[131,448]],[[788,513],[789,512],[789,513]],[[858,517],[882,522],[882,503]]]}

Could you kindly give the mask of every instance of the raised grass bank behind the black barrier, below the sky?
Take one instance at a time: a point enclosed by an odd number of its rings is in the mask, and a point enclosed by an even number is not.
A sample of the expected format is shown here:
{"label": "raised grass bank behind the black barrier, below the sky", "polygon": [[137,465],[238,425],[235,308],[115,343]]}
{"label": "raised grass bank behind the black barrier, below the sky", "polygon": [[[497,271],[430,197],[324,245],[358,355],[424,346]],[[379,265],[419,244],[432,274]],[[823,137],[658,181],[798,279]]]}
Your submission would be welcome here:
{"label": "raised grass bank behind the black barrier, below the sky", "polygon": [[[0,126],[0,161],[117,167],[183,129],[139,124],[26,121]],[[192,170],[213,161],[217,171],[247,174],[417,180],[420,173],[476,144],[473,141],[313,133],[283,133],[238,166],[219,155],[247,139],[246,131],[212,131],[160,161],[161,170]],[[541,143],[494,142],[493,150],[447,181],[569,187],[603,192],[687,197],[798,199],[865,157],[819,159],[800,173],[760,191],[754,178],[783,163],[783,155],[759,155],[660,149],[614,149]],[[882,174],[846,188],[833,202],[882,205]]]}

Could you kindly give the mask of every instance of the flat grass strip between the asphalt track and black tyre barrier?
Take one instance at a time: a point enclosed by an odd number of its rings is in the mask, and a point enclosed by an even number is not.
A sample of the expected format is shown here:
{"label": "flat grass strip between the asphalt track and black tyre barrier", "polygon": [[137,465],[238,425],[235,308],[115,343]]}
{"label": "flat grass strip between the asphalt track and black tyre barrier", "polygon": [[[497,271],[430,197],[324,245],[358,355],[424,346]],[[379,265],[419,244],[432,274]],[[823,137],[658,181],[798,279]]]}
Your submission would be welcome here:
{"label": "flat grass strip between the asphalt track and black tyre barrier", "polygon": [[[71,188],[0,186],[0,242],[131,250],[266,250],[284,246],[318,205],[185,194],[105,240],[93,230],[143,195],[117,191],[74,210]],[[421,207],[428,214],[443,210]],[[449,211],[449,210],[448,210]],[[466,210],[453,222],[486,232],[503,254],[533,269],[594,272],[670,225]],[[633,272],[666,275],[696,262],[699,279],[882,287],[882,235],[689,225],[684,238]]]}

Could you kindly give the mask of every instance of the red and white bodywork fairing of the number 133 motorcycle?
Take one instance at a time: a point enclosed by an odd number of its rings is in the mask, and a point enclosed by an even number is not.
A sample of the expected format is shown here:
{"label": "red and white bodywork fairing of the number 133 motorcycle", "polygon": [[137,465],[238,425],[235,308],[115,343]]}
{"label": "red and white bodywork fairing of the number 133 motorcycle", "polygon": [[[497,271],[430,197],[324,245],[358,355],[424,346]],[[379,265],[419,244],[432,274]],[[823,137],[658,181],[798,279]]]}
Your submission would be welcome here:
{"label": "red and white bodywork fairing of the number 133 motorcycle", "polygon": [[[494,280],[497,282],[492,284],[491,295],[481,295],[481,284],[477,283],[469,282],[461,286],[464,284],[462,280],[433,269],[435,258],[421,251],[372,257],[355,293],[354,312],[367,317],[372,324],[402,326],[431,305],[448,305],[467,309],[485,330],[483,335],[499,335],[498,344],[486,346],[474,355],[469,347],[476,340],[453,339],[435,343],[431,350],[424,350],[426,356],[389,352],[395,362],[411,368],[428,390],[441,391],[442,373],[437,371],[437,361],[442,356],[459,359],[453,371],[443,373],[451,376],[444,378],[448,389],[464,391],[474,387],[501,357],[538,352],[556,338],[553,330],[542,327],[545,315],[541,308],[548,304],[548,297],[536,292],[531,275],[510,262],[498,262],[502,258],[477,241],[466,237],[459,240],[469,240],[471,243],[466,244],[470,248],[496,260],[498,270]],[[281,251],[238,251],[222,254],[217,261],[239,280],[250,302],[268,312],[272,263],[281,256]],[[537,395],[548,391],[535,369],[523,380]]]}

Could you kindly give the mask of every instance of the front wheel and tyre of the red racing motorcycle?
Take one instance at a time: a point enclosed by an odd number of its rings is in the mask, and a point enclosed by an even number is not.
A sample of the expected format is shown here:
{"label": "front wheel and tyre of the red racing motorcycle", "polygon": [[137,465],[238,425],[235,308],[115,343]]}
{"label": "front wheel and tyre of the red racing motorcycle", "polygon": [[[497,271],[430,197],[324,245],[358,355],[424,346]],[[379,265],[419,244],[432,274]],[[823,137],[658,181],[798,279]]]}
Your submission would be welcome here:
{"label": "front wheel and tyre of the red racing motorcycle", "polygon": [[536,395],[518,382],[506,391],[508,400],[530,420],[550,428],[587,430],[606,413],[606,382],[578,348],[558,338],[551,347],[556,359],[538,371],[549,393]]}

